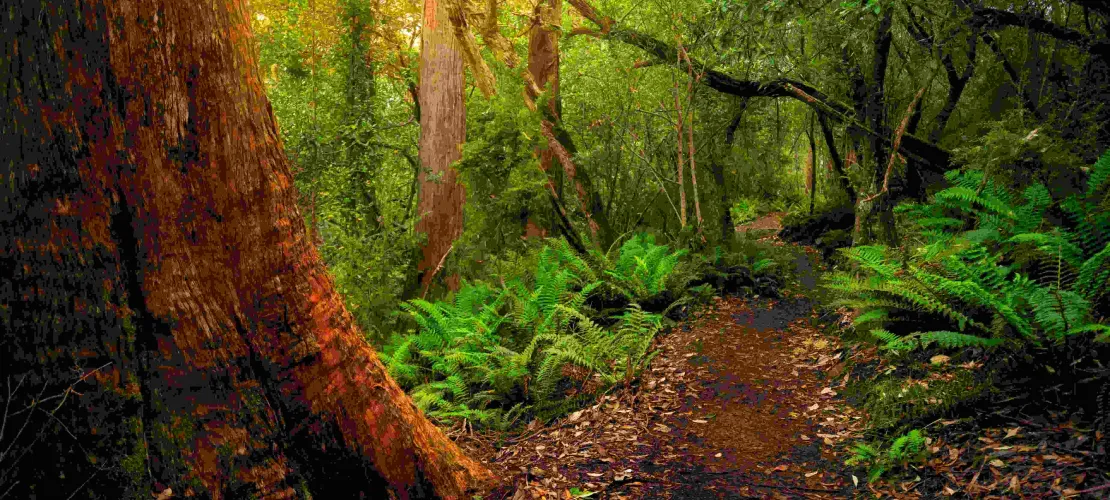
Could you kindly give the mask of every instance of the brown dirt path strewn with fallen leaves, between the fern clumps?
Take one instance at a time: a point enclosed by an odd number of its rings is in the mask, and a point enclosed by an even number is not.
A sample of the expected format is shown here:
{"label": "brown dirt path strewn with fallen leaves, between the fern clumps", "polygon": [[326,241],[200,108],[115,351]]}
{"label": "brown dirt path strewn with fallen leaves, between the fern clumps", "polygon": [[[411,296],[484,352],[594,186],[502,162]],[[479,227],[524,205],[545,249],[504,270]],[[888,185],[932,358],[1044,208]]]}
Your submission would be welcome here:
{"label": "brown dirt path strewn with fallen leaves, between the fern clumps", "polygon": [[851,496],[842,450],[864,422],[815,317],[804,299],[715,299],[633,387],[497,449],[458,441],[504,478],[498,499]]}

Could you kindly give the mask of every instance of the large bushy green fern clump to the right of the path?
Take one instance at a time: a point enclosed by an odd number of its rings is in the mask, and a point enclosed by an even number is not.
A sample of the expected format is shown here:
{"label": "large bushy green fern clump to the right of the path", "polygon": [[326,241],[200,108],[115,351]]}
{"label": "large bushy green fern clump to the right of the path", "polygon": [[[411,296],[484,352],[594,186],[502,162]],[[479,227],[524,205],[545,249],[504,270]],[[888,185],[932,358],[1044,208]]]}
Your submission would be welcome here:
{"label": "large bushy green fern clump to the right of the path", "polygon": [[898,209],[919,238],[908,256],[882,246],[849,249],[857,269],[834,273],[827,287],[861,311],[857,327],[896,351],[932,342],[1040,346],[1076,333],[1107,340],[1092,306],[1110,278],[1107,172],[1110,153],[1092,167],[1084,192],[1060,203],[1067,227],[1047,221],[1053,202],[1041,184],[1016,196],[982,172],[949,172],[952,187]]}

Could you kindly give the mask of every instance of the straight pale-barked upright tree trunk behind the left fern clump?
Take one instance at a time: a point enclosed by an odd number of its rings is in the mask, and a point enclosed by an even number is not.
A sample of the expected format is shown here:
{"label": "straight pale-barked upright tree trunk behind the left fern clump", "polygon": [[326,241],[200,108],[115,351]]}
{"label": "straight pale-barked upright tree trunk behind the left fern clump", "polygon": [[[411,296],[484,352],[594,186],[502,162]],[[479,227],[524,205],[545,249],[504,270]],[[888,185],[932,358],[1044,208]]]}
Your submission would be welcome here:
{"label": "straight pale-barked upright tree trunk behind the left fern clump", "polygon": [[[416,231],[427,234],[417,270],[425,290],[435,269],[463,233],[466,193],[451,164],[466,141],[463,53],[454,34],[447,2],[424,0],[420,61],[420,174]],[[457,288],[457,280],[447,286]]]}

